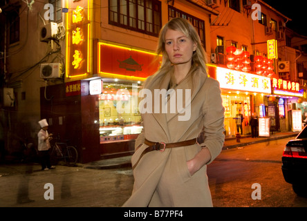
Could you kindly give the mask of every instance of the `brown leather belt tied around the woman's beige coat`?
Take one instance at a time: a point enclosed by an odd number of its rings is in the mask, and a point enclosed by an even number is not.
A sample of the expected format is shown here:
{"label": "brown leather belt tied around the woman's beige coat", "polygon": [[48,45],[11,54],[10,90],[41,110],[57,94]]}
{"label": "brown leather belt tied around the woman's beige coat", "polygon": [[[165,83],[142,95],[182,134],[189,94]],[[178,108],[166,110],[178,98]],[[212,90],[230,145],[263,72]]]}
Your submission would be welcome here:
{"label": "brown leather belt tied around the woman's beige coat", "polygon": [[142,154],[138,158],[138,161],[136,162],[136,164],[133,165],[132,169],[136,168],[136,165],[138,165],[138,162],[140,161],[142,156],[145,155],[145,153],[149,153],[151,151],[161,151],[161,152],[163,152],[163,151],[165,151],[165,148],[174,148],[174,147],[179,147],[179,146],[189,146],[189,145],[196,144],[196,142],[197,142],[197,138],[194,138],[192,140],[185,140],[185,141],[181,141],[181,142],[176,142],[176,143],[169,143],[169,144],[165,144],[165,142],[151,142],[151,141],[145,139],[144,144],[148,145],[148,147],[142,152]]}

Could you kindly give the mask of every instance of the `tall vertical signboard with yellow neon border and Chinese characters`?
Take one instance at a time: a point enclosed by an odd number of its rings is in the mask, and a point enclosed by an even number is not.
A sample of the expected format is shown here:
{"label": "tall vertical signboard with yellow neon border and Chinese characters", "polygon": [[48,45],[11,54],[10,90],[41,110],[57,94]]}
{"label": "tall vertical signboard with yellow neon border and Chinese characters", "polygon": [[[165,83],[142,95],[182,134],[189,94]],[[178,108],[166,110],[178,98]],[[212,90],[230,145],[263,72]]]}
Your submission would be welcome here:
{"label": "tall vertical signboard with yellow neon border and Chinese characters", "polygon": [[67,0],[66,77],[82,77],[91,72],[92,1]]}

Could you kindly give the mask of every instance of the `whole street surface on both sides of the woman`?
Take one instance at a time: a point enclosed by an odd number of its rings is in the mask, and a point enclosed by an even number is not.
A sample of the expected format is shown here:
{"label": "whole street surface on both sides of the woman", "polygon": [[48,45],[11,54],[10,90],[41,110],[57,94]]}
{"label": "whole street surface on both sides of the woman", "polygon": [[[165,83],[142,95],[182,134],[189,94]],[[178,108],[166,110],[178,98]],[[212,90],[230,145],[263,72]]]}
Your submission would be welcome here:
{"label": "whole street surface on both sides of the woman", "polygon": [[[216,207],[307,206],[281,173],[283,147],[290,138],[224,150],[207,173]],[[131,168],[84,169],[39,164],[0,166],[0,206],[121,206],[131,194]],[[253,188],[252,188],[253,187]]]}

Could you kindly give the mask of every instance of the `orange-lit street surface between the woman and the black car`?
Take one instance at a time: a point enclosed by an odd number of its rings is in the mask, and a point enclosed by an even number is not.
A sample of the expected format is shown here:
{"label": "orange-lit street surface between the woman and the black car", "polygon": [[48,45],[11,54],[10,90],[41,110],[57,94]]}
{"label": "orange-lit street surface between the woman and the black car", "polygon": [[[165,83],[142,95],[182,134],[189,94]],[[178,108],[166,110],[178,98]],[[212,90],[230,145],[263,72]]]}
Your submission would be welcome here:
{"label": "orange-lit street surface between the woman and the black car", "polygon": [[[307,198],[297,196],[283,179],[281,155],[288,140],[223,151],[207,170],[214,206],[307,206]],[[257,192],[260,194],[255,199]]]}

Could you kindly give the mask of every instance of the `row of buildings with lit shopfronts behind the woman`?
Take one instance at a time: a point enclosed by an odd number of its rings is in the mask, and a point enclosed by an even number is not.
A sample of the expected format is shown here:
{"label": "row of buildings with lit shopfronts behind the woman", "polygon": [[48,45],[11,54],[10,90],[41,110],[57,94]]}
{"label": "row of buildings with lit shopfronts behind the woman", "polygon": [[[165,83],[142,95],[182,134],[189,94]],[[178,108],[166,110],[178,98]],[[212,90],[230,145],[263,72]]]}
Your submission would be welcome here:
{"label": "row of buildings with lit shopfronts behind the woman", "polygon": [[[270,131],[290,131],[289,111],[304,109],[296,105],[301,91],[275,93],[289,82],[303,86],[304,74],[296,73],[306,68],[304,56],[297,58],[301,48],[288,45],[297,37],[287,34],[289,18],[263,1],[2,0],[0,8],[1,136],[8,153],[19,151],[18,140],[37,142],[42,118],[50,133],[77,147],[80,162],[133,153],[142,130],[138,91],[158,70],[158,33],[173,17],[191,21],[201,37],[210,77],[221,84],[225,135],[236,134],[237,113],[249,134],[253,113],[270,119]],[[257,59],[268,57],[268,40],[278,57],[263,74]],[[250,60],[247,69],[229,63],[234,55]],[[290,61],[288,74],[279,72],[282,61]]]}

